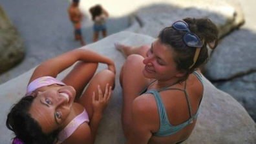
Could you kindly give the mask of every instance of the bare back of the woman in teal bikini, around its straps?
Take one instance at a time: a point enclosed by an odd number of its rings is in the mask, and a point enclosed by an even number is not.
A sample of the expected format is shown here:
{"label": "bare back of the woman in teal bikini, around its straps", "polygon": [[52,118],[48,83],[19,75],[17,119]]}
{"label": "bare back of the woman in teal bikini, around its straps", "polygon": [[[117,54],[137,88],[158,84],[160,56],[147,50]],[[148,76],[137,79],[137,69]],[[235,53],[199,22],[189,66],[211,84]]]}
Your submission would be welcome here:
{"label": "bare back of the woman in teal bikini, around its straps", "polygon": [[[173,88],[184,88],[185,82],[181,83],[181,85],[174,85]],[[200,99],[202,98],[203,88],[200,81],[198,81],[197,77],[193,74],[189,76],[187,79],[186,90],[189,95],[189,100],[191,103],[192,114],[195,115],[198,106],[200,103]],[[157,89],[155,88],[154,83],[147,89]],[[189,116],[189,108],[187,105],[186,97],[184,92],[180,90],[164,90],[159,93],[162,101],[164,103],[165,110],[167,112],[167,118],[169,123],[173,126],[180,125],[187,121],[190,118]],[[145,96],[144,96],[145,95]],[[151,95],[151,96],[150,96]],[[141,97],[141,98],[140,98]],[[147,97],[147,98],[145,98]],[[141,107],[145,106],[145,109],[151,109],[150,115],[147,116],[146,113],[144,117],[148,118],[147,120],[151,123],[151,132],[158,132],[160,129],[160,116],[158,112],[158,107],[156,105],[156,99],[152,94],[143,94],[137,98],[140,101]],[[143,106],[144,105],[144,106]],[[150,106],[149,106],[150,105]],[[142,121],[143,123],[143,121]],[[158,137],[152,135],[149,139],[149,143],[178,143],[187,139],[191,132],[193,131],[195,124],[197,123],[197,119],[193,121],[193,123],[187,125],[182,130],[179,130],[175,134],[165,137]]]}

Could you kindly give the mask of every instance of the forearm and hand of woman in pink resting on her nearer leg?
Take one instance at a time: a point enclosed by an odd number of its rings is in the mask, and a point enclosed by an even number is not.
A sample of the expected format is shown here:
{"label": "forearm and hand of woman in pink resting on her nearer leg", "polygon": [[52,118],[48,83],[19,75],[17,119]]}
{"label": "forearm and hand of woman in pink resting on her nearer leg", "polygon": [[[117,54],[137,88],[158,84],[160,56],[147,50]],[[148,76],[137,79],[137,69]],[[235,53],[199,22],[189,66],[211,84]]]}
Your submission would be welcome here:
{"label": "forearm and hand of woman in pink resting on her nearer leg", "polygon": [[100,121],[109,99],[111,98],[112,87],[109,87],[109,84],[106,85],[105,94],[102,94],[100,85],[98,85],[98,100],[96,99],[95,92],[92,96],[92,108],[93,114],[92,119],[89,123],[91,128],[91,143],[94,143],[98,127],[100,126]]}

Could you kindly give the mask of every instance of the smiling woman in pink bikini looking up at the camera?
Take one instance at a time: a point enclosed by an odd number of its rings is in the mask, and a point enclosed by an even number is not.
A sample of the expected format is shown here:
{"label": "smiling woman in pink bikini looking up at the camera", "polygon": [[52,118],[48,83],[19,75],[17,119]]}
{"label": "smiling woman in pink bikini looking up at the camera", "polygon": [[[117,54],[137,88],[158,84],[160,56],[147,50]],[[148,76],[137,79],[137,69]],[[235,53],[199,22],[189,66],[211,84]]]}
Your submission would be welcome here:
{"label": "smiling woman in pink bikini looking up at the camera", "polygon": [[[74,63],[67,76],[56,79]],[[99,63],[108,68],[95,74]],[[114,61],[91,50],[76,49],[44,61],[7,115],[6,127],[16,135],[13,144],[94,143],[114,77]]]}

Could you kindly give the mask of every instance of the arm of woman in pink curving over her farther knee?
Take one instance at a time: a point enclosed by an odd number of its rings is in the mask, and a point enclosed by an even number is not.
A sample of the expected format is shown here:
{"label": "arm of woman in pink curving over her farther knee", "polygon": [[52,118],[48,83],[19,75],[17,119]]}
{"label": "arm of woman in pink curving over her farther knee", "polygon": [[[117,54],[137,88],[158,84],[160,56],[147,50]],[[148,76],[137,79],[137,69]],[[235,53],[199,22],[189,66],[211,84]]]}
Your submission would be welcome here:
{"label": "arm of woman in pink curving over her farther knee", "polygon": [[102,56],[92,50],[76,49],[41,63],[41,65],[34,70],[29,83],[42,76],[56,77],[60,72],[69,68],[77,61],[84,61],[85,63],[105,63],[108,65],[109,70],[115,72],[114,61],[109,57]]}

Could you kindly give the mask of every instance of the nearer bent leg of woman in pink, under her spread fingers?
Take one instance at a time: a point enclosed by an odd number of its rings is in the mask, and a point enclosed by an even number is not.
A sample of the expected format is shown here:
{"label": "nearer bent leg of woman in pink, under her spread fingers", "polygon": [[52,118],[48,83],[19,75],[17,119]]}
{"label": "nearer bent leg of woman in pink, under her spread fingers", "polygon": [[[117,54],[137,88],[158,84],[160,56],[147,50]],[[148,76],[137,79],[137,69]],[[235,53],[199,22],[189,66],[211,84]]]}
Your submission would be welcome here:
{"label": "nearer bent leg of woman in pink, under her spread fingers", "polygon": [[79,103],[85,107],[88,112],[89,118],[92,118],[93,110],[92,110],[92,93],[96,93],[96,99],[98,98],[98,90],[97,87],[100,85],[102,92],[105,91],[106,84],[109,83],[109,86],[114,88],[114,73],[110,70],[102,70],[96,74],[96,76],[92,77],[91,82],[86,88],[85,92],[80,98]]}

